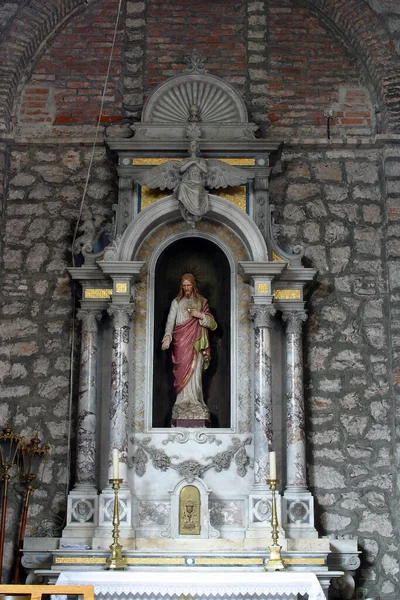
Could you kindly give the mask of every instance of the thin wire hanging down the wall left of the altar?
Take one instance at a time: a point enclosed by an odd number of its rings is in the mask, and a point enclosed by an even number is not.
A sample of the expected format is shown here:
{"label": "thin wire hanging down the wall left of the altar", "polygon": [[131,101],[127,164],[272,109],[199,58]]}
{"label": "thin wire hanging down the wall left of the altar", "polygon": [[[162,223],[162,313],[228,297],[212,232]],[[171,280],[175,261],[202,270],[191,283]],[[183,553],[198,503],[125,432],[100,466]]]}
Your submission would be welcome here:
{"label": "thin wire hanging down the wall left of the altar", "polygon": [[[85,4],[87,4],[87,2],[85,2]],[[78,218],[76,220],[74,235],[72,238],[71,248],[72,248],[72,266],[73,267],[75,267],[74,245],[75,245],[75,240],[76,240],[76,236],[77,236],[78,229],[79,229],[79,223],[80,223],[80,220],[82,217],[83,207],[84,207],[84,203],[85,203],[85,199],[86,199],[86,193],[87,193],[89,180],[90,180],[90,174],[91,174],[92,165],[93,165],[94,153],[95,153],[96,144],[97,144],[97,138],[98,138],[99,129],[100,129],[101,117],[103,115],[104,100],[105,100],[108,80],[109,80],[110,71],[111,71],[111,64],[112,64],[113,55],[114,55],[114,48],[115,48],[115,41],[117,38],[119,18],[121,15],[121,6],[122,6],[122,0],[119,0],[117,16],[115,19],[113,41],[112,41],[112,46],[111,46],[111,51],[110,51],[110,58],[108,60],[108,67],[107,67],[106,78],[104,81],[103,93],[101,96],[100,110],[99,110],[99,116],[97,119],[95,137],[94,137],[94,141],[93,141],[88,172],[86,175],[85,187],[83,189],[82,200],[81,200],[81,204],[79,207]],[[75,327],[76,327],[75,310],[76,310],[76,304],[77,304],[77,289],[76,289],[75,282],[73,282],[73,288],[72,288],[72,303],[73,303],[73,306],[72,306],[72,336],[71,336],[71,352],[70,352],[71,374],[70,374],[70,381],[69,381],[69,386],[70,386],[69,406],[68,406],[69,430],[68,430],[68,443],[67,443],[68,463],[67,463],[67,481],[66,481],[66,495],[67,496],[68,496],[68,491],[69,491],[69,480],[70,480],[70,475],[71,475],[71,421],[72,421],[72,401],[73,401],[73,392],[74,392]]]}

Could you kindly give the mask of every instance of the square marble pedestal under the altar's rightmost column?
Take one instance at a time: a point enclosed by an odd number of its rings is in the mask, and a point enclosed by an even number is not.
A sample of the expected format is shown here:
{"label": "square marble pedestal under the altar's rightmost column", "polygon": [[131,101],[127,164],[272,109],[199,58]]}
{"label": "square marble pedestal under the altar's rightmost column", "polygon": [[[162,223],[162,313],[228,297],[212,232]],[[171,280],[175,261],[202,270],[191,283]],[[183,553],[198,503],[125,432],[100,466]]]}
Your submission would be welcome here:
{"label": "square marble pedestal under the altar's rightmost column", "polygon": [[289,538],[317,538],[314,498],[307,489],[290,487],[282,497],[282,527]]}

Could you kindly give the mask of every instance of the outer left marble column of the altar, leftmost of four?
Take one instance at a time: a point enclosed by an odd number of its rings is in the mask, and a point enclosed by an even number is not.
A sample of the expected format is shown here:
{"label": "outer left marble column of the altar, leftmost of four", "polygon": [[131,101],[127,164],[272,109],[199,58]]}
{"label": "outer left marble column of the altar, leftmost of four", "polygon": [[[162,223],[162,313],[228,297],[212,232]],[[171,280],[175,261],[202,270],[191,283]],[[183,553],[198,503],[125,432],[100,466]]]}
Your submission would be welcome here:
{"label": "outer left marble column of the altar, leftmost of four", "polygon": [[80,309],[77,318],[82,322],[81,365],[79,377],[76,484],[96,487],[97,433],[97,322],[101,311]]}

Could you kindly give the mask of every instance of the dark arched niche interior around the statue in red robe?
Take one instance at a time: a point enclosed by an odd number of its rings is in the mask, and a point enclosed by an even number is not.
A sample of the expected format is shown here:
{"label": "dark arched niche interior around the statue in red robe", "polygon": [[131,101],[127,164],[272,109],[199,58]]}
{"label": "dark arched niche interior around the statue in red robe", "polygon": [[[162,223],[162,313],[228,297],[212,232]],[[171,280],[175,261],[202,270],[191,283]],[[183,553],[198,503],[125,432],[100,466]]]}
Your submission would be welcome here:
{"label": "dark arched niche interior around the statue in red robe", "polygon": [[192,273],[200,294],[207,298],[218,327],[210,332],[211,362],[203,374],[204,401],[211,427],[231,427],[231,289],[230,266],[224,252],[209,240],[191,236],[170,244],[155,268],[153,427],[170,427],[175,402],[171,350],[161,340],[171,302],[179,292],[181,276]]}

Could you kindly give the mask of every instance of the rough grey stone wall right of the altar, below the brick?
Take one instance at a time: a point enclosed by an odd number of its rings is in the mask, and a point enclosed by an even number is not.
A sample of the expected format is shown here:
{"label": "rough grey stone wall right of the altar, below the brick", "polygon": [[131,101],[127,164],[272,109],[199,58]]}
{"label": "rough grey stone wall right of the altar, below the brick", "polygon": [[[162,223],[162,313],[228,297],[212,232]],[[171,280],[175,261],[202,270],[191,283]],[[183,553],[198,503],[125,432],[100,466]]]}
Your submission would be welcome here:
{"label": "rough grey stone wall right of the altar, below the brick", "polygon": [[[271,183],[283,246],[318,268],[304,344],[319,531],[356,535],[360,587],[397,588],[395,448],[381,152],[288,148]],[[390,596],[389,596],[390,597]]]}

